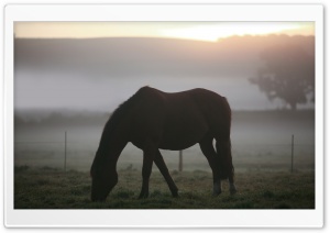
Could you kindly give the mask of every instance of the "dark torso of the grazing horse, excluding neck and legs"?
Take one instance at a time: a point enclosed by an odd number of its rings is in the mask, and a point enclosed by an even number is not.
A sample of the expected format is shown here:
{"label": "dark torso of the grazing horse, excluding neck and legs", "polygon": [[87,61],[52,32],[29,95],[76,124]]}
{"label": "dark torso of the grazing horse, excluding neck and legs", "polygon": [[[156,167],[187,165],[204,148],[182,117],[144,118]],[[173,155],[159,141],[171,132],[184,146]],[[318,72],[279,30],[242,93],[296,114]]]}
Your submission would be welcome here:
{"label": "dark torso of the grazing horse, excluding neck and legs", "polygon": [[208,133],[224,134],[230,125],[226,98],[206,89],[167,93],[144,87],[135,98],[131,134],[138,147],[148,137],[162,148],[183,149]]}

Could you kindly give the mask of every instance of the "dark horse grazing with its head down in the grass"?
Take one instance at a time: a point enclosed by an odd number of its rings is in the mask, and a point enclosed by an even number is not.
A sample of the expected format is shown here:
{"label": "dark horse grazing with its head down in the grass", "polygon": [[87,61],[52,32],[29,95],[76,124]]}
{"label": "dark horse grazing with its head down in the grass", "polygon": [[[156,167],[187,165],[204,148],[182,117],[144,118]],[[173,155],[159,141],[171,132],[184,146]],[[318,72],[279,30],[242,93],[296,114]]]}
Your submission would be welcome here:
{"label": "dark horse grazing with its head down in the grass", "polygon": [[103,129],[90,169],[91,200],[105,201],[117,185],[117,162],[129,142],[143,151],[140,198],[148,196],[153,163],[164,176],[172,195],[177,197],[178,189],[160,148],[179,151],[196,143],[199,143],[212,169],[213,195],[221,193],[222,179],[229,179],[230,192],[234,193],[230,124],[229,103],[218,93],[200,88],[176,93],[141,88],[113,112]]}

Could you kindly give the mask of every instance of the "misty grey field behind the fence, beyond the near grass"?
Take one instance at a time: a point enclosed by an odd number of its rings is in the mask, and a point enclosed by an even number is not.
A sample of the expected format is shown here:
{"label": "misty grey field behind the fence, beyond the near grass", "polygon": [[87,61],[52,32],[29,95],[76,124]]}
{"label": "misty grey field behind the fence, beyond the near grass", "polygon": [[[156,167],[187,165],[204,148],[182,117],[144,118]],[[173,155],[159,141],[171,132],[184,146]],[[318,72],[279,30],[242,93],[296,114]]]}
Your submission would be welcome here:
{"label": "misty grey field behind the fence, beyond the near grass", "polygon": [[[35,120],[34,114],[44,118]],[[67,112],[46,115],[46,112],[32,111],[26,115],[25,119],[15,118],[16,166],[63,168],[66,132],[67,167],[86,171],[90,168],[110,113]],[[314,111],[234,111],[231,141],[235,169],[288,170],[293,134],[296,169],[314,170]],[[198,144],[183,153],[184,170],[210,171]],[[178,169],[178,152],[162,151],[162,154],[170,170]],[[142,151],[129,143],[120,156],[118,168],[125,169],[133,166],[134,169],[141,169],[142,155]]]}

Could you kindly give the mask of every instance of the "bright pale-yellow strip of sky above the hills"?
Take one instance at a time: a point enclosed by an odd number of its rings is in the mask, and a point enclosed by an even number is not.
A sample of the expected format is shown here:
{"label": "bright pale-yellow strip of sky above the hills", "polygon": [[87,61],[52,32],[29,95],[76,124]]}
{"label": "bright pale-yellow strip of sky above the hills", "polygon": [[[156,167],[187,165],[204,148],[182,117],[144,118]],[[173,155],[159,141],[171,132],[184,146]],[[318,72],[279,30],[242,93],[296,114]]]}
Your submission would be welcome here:
{"label": "bright pale-yellow strip of sky above the hills", "polygon": [[231,35],[314,35],[312,22],[18,22],[16,37],[173,37],[215,42]]}

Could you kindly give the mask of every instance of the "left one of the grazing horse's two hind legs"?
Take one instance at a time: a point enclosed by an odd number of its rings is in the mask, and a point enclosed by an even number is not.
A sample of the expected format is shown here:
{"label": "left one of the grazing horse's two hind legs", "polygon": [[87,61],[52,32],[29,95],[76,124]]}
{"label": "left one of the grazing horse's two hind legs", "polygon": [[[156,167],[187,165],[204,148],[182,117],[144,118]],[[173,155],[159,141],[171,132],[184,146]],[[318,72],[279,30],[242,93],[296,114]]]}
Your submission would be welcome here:
{"label": "left one of the grazing horse's two hind legs", "polygon": [[221,179],[220,179],[220,167],[219,167],[219,158],[213,148],[211,137],[207,137],[199,143],[200,149],[202,154],[208,159],[208,163],[212,169],[213,174],[213,196],[219,196],[221,193]]}

